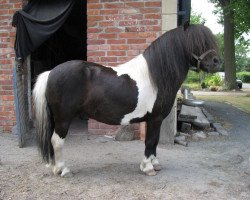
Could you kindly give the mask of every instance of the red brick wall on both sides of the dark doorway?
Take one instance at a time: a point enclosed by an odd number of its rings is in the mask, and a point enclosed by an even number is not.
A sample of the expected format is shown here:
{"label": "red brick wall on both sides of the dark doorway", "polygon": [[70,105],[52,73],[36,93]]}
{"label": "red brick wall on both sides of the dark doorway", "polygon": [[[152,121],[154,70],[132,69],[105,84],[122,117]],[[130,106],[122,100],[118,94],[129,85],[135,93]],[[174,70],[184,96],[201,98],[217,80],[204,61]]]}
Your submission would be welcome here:
{"label": "red brick wall on both sides of the dark doorway", "polygon": [[[26,0],[0,0],[0,131],[16,123],[12,68],[15,28],[12,16]],[[88,0],[88,61],[116,66],[143,50],[161,34],[161,0]],[[110,134],[116,126],[94,120],[89,130]],[[135,126],[139,132],[139,126]]]}

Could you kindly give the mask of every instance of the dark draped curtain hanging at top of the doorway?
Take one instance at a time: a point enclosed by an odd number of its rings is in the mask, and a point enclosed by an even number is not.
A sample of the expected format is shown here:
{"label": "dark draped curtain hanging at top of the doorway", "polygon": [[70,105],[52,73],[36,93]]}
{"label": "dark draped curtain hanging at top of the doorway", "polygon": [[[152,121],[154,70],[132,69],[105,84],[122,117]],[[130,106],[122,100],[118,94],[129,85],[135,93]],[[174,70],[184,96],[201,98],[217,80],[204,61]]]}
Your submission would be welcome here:
{"label": "dark draped curtain hanging at top of the doorway", "polygon": [[13,16],[16,26],[15,52],[25,59],[66,21],[75,0],[31,0]]}

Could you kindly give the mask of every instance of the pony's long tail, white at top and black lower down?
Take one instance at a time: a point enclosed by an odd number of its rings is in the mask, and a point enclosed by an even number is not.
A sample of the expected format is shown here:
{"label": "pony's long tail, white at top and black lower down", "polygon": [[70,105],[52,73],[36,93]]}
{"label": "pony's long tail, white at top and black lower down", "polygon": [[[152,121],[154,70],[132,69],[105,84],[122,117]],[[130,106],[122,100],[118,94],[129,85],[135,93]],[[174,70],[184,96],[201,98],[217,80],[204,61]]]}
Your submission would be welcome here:
{"label": "pony's long tail, white at top and black lower down", "polygon": [[54,120],[45,96],[49,73],[50,71],[46,71],[38,76],[33,89],[33,102],[38,148],[43,160],[47,163],[53,163],[54,150],[51,144],[51,137],[54,131]]}

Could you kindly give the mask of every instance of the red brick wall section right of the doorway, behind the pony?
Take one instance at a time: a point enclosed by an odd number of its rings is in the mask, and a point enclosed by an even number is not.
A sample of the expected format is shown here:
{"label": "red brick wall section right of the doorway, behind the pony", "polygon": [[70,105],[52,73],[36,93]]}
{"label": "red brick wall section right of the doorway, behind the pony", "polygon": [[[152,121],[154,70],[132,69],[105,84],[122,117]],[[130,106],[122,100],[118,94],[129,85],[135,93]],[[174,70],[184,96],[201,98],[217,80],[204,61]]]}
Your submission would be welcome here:
{"label": "red brick wall section right of the doorway, behind the pony", "polygon": [[[142,53],[161,34],[161,2],[88,0],[88,61],[116,66]],[[90,132],[112,134],[116,129],[89,121]]]}

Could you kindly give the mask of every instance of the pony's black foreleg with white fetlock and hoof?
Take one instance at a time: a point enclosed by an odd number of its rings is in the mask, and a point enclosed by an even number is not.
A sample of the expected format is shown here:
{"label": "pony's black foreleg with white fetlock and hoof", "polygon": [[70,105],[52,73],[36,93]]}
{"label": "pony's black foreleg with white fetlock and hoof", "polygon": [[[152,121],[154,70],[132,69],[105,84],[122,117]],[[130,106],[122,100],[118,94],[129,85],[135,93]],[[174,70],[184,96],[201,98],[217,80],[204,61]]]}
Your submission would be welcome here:
{"label": "pony's black foreleg with white fetlock and hoof", "polygon": [[161,118],[147,122],[145,158],[140,164],[140,169],[149,176],[154,176],[156,175],[156,171],[161,170],[160,163],[156,158],[156,148],[159,142],[161,123]]}

